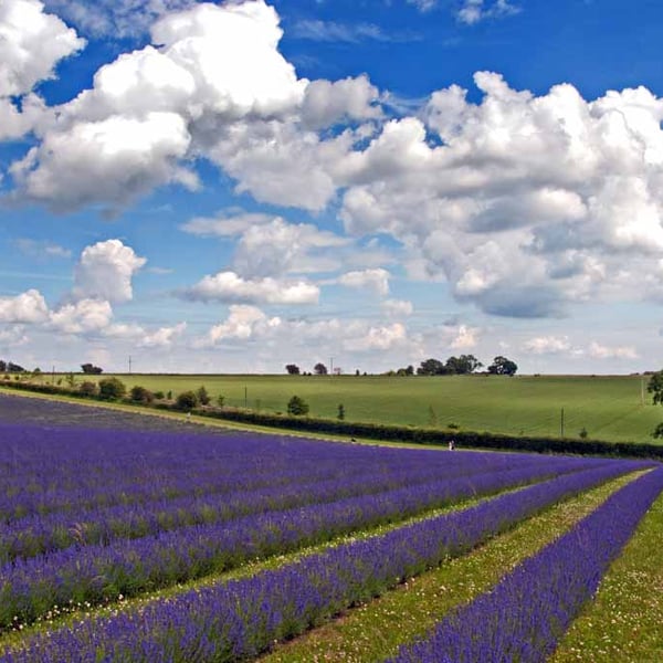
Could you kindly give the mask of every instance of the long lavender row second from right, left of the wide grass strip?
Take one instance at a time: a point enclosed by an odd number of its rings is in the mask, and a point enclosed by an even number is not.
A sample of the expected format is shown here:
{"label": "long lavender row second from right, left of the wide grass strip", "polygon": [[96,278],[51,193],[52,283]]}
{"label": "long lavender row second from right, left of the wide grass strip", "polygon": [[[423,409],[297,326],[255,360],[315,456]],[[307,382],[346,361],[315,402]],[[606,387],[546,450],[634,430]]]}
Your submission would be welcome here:
{"label": "long lavender row second from right, left of the wide grass strip", "polygon": [[[108,618],[84,619],[71,628],[32,636],[0,661],[222,662],[255,656],[274,640],[299,633],[448,556],[466,551],[554,502],[638,466],[642,465],[608,463],[562,475],[275,570],[155,600]],[[661,471],[652,475],[660,490]],[[641,487],[650,485],[642,482],[638,480],[638,490],[619,499],[620,506],[635,514],[631,520],[646,508],[646,501],[635,499]],[[614,518],[614,509],[610,517]]]}

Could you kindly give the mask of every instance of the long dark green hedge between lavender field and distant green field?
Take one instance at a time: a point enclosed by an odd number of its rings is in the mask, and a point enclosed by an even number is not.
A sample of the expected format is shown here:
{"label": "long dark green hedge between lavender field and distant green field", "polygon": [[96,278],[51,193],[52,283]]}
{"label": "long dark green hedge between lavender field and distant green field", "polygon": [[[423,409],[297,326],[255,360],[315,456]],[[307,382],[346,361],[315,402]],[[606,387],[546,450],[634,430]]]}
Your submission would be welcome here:
{"label": "long dark green hedge between lavender field and distant green field", "polygon": [[[54,385],[34,385],[18,381],[0,381],[0,386],[21,391],[34,391],[70,396],[86,400],[98,400],[98,397],[84,396],[81,392]],[[126,402],[126,401],[123,401]],[[139,408],[177,411],[175,403],[157,402],[150,406],[131,403]],[[414,427],[386,425],[379,423],[360,423],[337,419],[313,419],[308,417],[287,417],[253,410],[196,408],[192,412],[200,417],[264,425],[269,428],[297,430],[309,433],[329,433],[347,438],[365,438],[387,442],[410,442],[414,444],[444,444],[455,440],[456,448],[495,449],[501,451],[527,451],[535,453],[564,453],[580,455],[624,456],[641,459],[662,459],[663,445],[641,442],[603,442],[600,440],[575,440],[568,438],[517,438],[497,433],[480,433],[472,431],[440,431]]]}

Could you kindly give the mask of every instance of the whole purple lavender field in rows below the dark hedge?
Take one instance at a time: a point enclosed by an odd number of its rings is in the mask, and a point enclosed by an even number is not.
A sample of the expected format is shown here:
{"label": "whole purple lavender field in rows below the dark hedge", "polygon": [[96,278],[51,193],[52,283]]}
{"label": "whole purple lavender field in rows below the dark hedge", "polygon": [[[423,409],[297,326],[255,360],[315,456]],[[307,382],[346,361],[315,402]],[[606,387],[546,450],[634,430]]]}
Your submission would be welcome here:
{"label": "whole purple lavender field in rows below the dark hedge", "polygon": [[0,402],[3,662],[287,660],[302,634],[604,491],[396,651],[344,655],[545,661],[663,490],[646,461],[67,419],[67,407],[18,418]]}

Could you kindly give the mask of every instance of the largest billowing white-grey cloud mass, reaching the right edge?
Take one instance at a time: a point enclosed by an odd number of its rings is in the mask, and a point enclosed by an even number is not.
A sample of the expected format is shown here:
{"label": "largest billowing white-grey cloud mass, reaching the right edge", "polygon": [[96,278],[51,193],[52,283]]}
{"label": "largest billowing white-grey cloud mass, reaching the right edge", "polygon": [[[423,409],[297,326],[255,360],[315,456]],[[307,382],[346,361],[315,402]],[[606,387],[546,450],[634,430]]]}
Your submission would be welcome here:
{"label": "largest billowing white-grey cloud mass, reaching the right edge", "polygon": [[348,232],[392,235],[419,276],[493,315],[660,298],[663,99],[640,87],[588,102],[568,84],[536,96],[491,72],[475,83],[480,103],[438,91],[423,120],[389,120],[352,154]]}

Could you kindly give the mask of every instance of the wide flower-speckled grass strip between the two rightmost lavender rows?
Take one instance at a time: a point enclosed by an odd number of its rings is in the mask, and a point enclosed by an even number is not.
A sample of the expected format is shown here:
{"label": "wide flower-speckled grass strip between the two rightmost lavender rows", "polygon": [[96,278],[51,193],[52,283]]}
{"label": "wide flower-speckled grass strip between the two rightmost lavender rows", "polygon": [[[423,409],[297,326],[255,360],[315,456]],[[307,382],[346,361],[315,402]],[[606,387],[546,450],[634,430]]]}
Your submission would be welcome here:
{"label": "wide flower-speckled grass strip between the two rightmost lavender rows", "polygon": [[393,655],[400,644],[425,634],[453,607],[487,591],[518,562],[552,541],[633,477],[620,477],[558,504],[470,555],[451,559],[439,569],[278,645],[261,663],[382,661]]}

